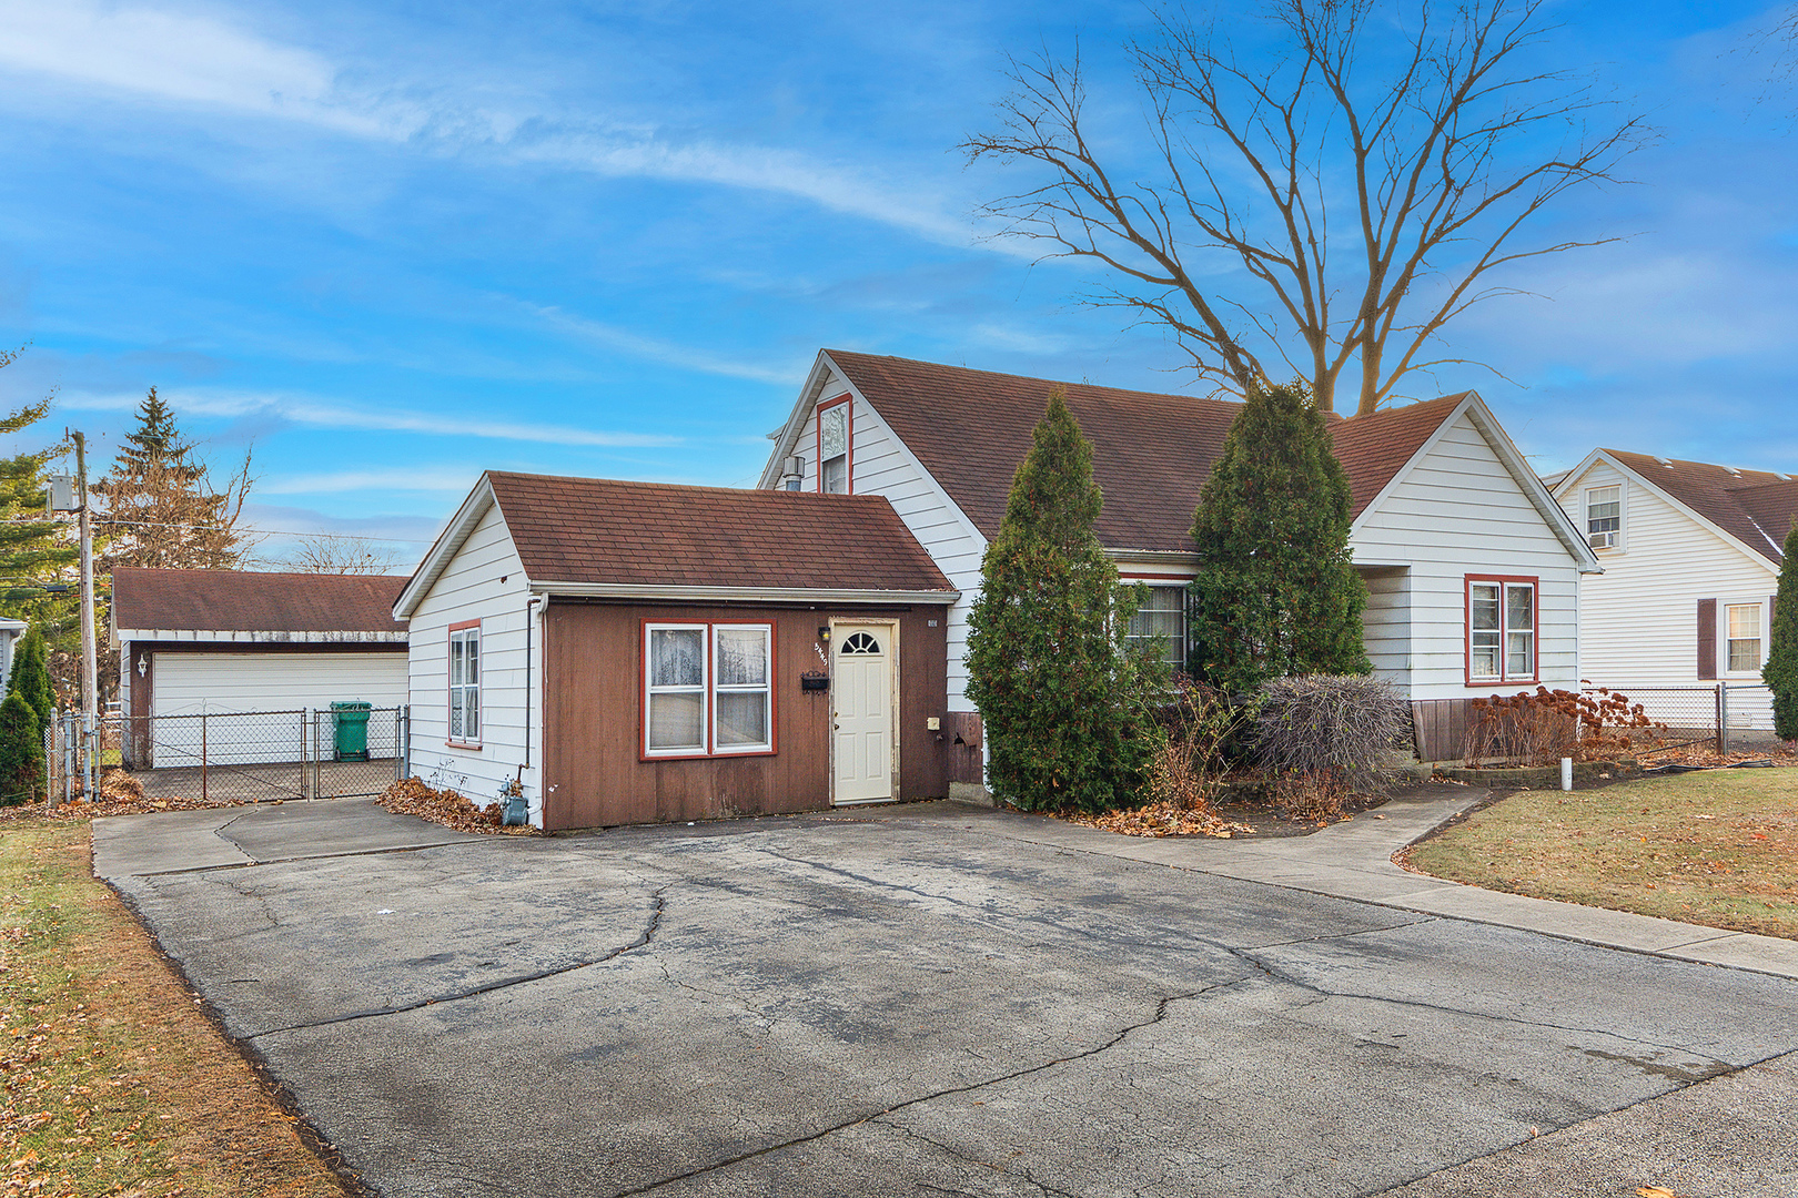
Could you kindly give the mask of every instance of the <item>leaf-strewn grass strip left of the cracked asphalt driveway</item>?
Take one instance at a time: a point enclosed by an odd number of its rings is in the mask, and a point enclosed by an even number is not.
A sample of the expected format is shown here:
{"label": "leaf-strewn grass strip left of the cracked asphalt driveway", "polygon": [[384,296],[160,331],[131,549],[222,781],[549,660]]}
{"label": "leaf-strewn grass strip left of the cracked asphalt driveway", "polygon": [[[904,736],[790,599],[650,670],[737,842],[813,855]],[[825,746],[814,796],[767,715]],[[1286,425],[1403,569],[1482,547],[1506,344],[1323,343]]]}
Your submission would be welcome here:
{"label": "leaf-strewn grass strip left of the cracked asphalt driveway", "polygon": [[0,824],[0,1194],[342,1198],[88,869],[88,823]]}

